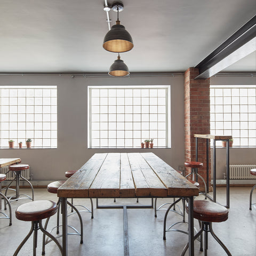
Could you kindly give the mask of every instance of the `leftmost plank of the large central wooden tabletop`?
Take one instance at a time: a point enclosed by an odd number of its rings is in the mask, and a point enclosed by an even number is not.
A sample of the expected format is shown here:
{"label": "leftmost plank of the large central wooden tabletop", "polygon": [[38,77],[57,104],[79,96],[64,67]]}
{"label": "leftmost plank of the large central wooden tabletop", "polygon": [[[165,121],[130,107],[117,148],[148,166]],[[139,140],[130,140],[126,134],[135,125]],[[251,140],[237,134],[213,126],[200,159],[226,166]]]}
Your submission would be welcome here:
{"label": "leftmost plank of the large central wooden tabletop", "polygon": [[75,174],[73,174],[59,189],[59,197],[88,198],[89,188],[107,154],[94,154]]}

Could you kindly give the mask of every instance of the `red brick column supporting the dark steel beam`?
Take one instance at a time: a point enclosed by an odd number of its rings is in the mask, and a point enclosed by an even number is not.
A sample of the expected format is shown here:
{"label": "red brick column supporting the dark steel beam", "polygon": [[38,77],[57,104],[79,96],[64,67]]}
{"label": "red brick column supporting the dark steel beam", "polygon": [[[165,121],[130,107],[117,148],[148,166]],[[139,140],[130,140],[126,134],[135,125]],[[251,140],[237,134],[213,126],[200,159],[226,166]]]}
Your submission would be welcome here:
{"label": "red brick column supporting the dark steel beam", "polygon": [[[197,68],[185,72],[184,82],[184,115],[185,115],[185,161],[196,161],[196,139],[194,134],[210,134],[210,79],[194,79],[199,74]],[[209,154],[211,155],[211,154]],[[209,159],[210,163],[211,160]],[[204,166],[198,173],[206,182],[206,139],[198,139],[198,162]],[[211,168],[210,168],[211,181]],[[186,174],[190,168],[186,168]],[[204,184],[198,178],[200,190]],[[210,183],[209,183],[210,184]]]}

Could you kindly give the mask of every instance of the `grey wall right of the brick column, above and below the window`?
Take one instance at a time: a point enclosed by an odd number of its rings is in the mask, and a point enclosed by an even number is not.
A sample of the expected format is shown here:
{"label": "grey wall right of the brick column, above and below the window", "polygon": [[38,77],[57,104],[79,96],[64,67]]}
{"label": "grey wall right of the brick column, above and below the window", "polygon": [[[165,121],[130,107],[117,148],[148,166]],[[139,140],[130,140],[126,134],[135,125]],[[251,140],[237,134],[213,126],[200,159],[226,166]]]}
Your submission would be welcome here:
{"label": "grey wall right of the brick column, above and below the window", "polygon": [[[211,85],[255,85],[256,77],[225,76],[211,77]],[[229,164],[256,164],[256,148],[230,148]],[[213,158],[212,158],[213,159]],[[226,148],[216,150],[217,179],[223,179],[226,171]]]}

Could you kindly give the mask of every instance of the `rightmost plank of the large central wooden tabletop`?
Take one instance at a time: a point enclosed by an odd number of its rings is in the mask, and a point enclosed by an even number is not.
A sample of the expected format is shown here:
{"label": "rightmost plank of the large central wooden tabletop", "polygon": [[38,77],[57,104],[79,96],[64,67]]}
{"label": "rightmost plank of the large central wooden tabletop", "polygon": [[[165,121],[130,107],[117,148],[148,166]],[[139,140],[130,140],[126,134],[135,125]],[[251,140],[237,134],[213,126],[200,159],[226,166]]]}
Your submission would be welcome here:
{"label": "rightmost plank of the large central wooden tabletop", "polygon": [[153,153],[141,153],[167,188],[167,196],[198,196],[198,188]]}

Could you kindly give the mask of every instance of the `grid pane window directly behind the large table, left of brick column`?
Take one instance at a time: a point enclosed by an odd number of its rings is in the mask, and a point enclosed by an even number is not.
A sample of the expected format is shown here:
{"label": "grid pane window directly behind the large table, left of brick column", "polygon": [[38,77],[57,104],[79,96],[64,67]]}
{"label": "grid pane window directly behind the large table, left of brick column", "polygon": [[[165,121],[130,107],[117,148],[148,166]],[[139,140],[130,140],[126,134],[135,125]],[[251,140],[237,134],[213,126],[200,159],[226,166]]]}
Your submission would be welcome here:
{"label": "grid pane window directly behind the large table, left of brick column", "polygon": [[170,146],[170,86],[89,86],[89,147]]}

